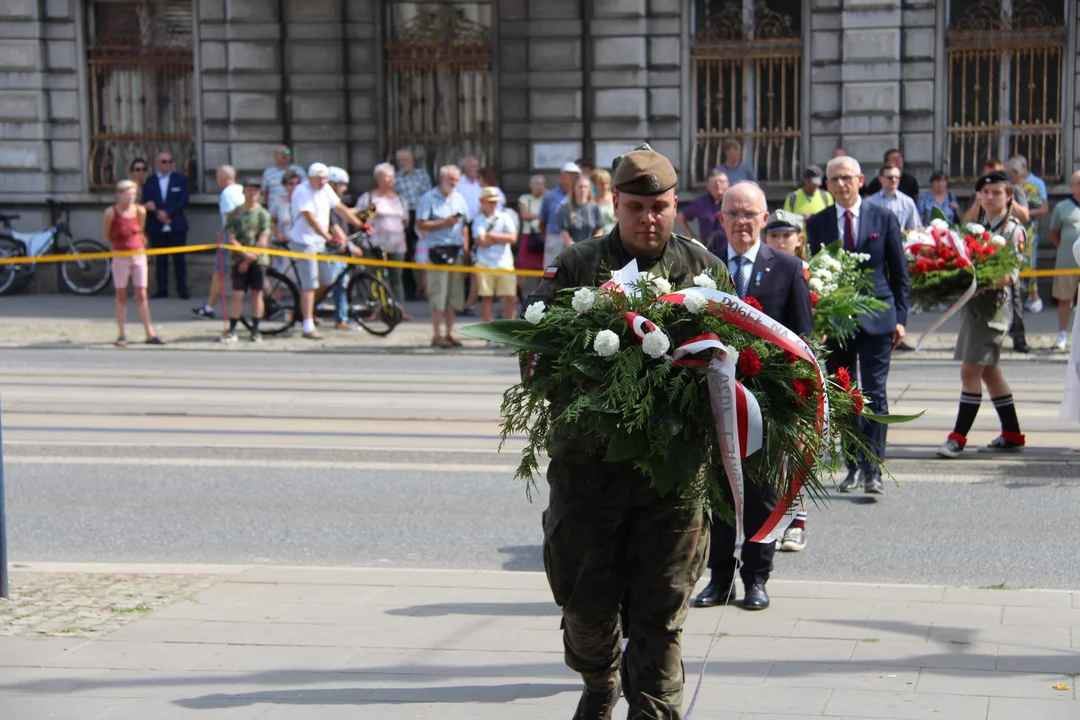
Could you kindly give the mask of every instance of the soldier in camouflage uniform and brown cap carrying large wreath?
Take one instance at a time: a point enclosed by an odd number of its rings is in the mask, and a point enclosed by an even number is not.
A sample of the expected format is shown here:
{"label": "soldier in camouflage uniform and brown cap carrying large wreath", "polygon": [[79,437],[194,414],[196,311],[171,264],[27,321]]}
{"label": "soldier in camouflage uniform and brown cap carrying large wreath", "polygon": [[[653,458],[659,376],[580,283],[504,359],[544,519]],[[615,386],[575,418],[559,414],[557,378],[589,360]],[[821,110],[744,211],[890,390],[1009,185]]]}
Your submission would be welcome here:
{"label": "soldier in camouflage uniform and brown cap carrying large wreath", "polygon": [[[666,275],[675,287],[723,268],[704,246],[672,232],[675,169],[643,147],[624,155],[615,173],[618,225],[559,254],[526,304],[550,304],[564,288],[598,286],[634,258],[640,271]],[[563,609],[566,664],[585,681],[573,718],[611,718],[622,665],[629,719],[678,720],[681,627],[708,546],[703,508],[661,498],[632,462],[603,462],[604,449],[583,435],[559,438],[549,454],[544,569]],[[625,657],[623,636],[630,639]]]}

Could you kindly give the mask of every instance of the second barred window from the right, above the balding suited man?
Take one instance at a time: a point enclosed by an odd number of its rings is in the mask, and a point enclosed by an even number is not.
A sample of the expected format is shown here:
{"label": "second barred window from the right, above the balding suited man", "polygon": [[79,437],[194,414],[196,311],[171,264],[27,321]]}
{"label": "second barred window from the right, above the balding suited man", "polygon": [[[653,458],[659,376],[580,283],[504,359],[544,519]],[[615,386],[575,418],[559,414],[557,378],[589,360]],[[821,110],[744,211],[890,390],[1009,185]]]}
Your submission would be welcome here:
{"label": "second barred window from the right, above the balding suited man", "polygon": [[694,0],[693,185],[724,162],[729,139],[762,184],[798,177],[800,9],[784,0]]}

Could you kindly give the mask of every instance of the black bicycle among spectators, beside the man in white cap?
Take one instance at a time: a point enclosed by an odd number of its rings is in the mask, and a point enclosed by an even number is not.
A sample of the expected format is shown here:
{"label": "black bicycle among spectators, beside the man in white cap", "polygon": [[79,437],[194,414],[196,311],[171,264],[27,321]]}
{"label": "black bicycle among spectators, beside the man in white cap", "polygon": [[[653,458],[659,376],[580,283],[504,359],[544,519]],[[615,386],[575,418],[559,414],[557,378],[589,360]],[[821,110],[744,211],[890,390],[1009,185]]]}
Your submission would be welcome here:
{"label": "black bicycle among spectators, beside the man in white cap", "polygon": [[[386,255],[380,248],[372,245],[366,232],[361,231],[349,235],[346,243],[354,241],[359,241],[356,244],[367,257],[378,260],[384,259]],[[279,249],[285,249],[288,246],[287,243],[276,240],[271,245]],[[347,254],[347,248],[348,244],[343,244],[340,253],[342,256]],[[327,248],[327,254],[334,253],[332,248]],[[265,336],[288,332],[300,318],[300,275],[296,269],[296,259],[282,259],[286,266],[284,272],[278,268],[267,270],[267,280],[262,290],[265,308],[262,320],[259,322],[259,332]],[[372,335],[379,337],[390,335],[402,322],[402,308],[388,287],[389,272],[386,268],[346,266],[327,288],[315,293],[315,308],[333,291],[334,286],[346,277],[349,282],[349,316]],[[252,329],[252,323],[247,317],[242,316],[240,322],[248,330]]]}

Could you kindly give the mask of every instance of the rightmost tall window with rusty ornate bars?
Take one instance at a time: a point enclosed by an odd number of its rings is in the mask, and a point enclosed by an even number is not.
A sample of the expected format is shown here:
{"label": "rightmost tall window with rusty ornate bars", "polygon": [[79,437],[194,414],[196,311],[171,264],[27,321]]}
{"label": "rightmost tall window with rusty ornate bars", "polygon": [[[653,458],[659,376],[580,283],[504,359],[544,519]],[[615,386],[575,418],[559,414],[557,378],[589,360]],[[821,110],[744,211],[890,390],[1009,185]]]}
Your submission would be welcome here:
{"label": "rightmost tall window with rusty ornate bars", "polygon": [[1065,57],[1064,0],[949,2],[947,159],[974,180],[989,157],[1022,154],[1059,180]]}

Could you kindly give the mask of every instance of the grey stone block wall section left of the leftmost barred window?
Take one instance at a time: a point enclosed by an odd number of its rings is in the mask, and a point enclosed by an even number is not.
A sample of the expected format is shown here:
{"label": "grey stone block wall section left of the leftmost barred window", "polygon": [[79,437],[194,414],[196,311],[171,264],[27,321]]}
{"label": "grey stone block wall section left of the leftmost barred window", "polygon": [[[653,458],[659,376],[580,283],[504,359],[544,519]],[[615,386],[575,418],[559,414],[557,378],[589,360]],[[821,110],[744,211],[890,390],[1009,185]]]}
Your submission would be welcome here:
{"label": "grey stone block wall section left of the leftmost barred window", "polygon": [[72,0],[0,0],[0,192],[39,202],[86,189]]}

